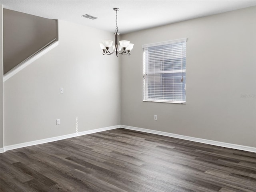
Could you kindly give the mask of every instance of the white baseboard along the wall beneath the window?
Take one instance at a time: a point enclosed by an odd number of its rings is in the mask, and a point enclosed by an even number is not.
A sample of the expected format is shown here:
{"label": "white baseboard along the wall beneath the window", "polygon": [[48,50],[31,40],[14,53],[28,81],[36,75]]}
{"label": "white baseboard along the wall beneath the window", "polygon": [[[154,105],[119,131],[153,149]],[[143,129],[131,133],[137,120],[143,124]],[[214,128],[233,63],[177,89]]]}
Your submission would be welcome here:
{"label": "white baseboard along the wall beneath the window", "polygon": [[168,132],[162,132],[162,131],[156,131],[156,130],[151,130],[151,129],[144,129],[144,128],[126,126],[126,125],[121,125],[121,128],[256,153],[256,148],[255,147],[250,147],[250,146],[243,146],[243,145],[237,145],[237,144],[232,144],[232,143],[224,143],[224,142],[219,142],[219,141],[201,139],[201,138],[196,138],[196,137],[178,135],[178,134],[173,134],[173,133],[168,133]]}

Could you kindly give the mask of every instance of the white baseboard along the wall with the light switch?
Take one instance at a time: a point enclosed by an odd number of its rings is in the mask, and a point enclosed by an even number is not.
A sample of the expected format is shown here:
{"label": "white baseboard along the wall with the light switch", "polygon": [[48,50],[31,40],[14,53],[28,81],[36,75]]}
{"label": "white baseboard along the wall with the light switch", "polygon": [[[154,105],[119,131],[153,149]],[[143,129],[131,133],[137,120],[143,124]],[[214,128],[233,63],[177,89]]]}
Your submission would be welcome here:
{"label": "white baseboard along the wall with the light switch", "polygon": [[87,134],[112,130],[112,129],[116,129],[116,128],[120,128],[120,125],[104,127],[104,128],[99,128],[99,129],[93,129],[93,130],[72,133],[72,134],[68,134],[68,135],[62,135],[62,136],[41,139],[41,140],[36,140],[36,141],[30,141],[30,142],[25,142],[25,143],[20,143],[20,144],[9,145],[9,146],[5,146],[4,150],[8,151],[8,150],[18,149],[18,148],[22,148],[22,147],[28,147],[28,146],[32,146],[32,145],[44,144],[44,143],[48,143],[48,142],[53,142],[53,141],[68,139],[68,138],[77,137],[77,136],[81,136],[81,135],[87,135]]}

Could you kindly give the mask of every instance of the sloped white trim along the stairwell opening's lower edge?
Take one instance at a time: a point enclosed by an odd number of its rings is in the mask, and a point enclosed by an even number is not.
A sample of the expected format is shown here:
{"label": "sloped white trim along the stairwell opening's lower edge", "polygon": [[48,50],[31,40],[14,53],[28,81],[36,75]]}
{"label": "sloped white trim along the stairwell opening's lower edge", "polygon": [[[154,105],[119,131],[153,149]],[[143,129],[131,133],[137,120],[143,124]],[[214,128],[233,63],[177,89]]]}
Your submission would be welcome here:
{"label": "sloped white trim along the stairwell opening's lower edge", "polygon": [[52,50],[54,47],[56,47],[59,44],[58,41],[53,42],[46,48],[44,48],[42,51],[38,52],[28,60],[22,62],[21,64],[17,65],[15,68],[12,70],[8,71],[6,74],[4,74],[4,82],[14,76],[16,73],[18,73],[20,70],[24,69],[26,66],[28,66],[30,63],[34,62],[36,59],[40,58],[44,54],[46,54],[48,51]]}

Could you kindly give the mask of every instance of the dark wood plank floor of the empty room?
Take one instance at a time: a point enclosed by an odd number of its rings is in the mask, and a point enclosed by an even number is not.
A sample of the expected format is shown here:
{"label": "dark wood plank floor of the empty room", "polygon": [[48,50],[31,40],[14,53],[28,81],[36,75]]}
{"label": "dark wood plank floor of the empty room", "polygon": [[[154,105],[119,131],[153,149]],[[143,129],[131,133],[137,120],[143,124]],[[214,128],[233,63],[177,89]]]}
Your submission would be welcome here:
{"label": "dark wood plank floor of the empty room", "polygon": [[116,129],[1,154],[1,192],[255,192],[256,154]]}

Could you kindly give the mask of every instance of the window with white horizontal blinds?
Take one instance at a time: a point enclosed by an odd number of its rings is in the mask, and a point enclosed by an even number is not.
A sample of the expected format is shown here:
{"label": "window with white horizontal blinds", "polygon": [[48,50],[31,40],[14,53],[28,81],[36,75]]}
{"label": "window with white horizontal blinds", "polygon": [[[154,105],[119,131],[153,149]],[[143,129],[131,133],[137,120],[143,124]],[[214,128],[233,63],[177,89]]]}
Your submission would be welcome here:
{"label": "window with white horizontal blinds", "polygon": [[186,103],[186,41],[143,45],[143,101]]}

